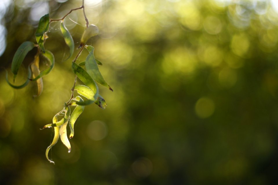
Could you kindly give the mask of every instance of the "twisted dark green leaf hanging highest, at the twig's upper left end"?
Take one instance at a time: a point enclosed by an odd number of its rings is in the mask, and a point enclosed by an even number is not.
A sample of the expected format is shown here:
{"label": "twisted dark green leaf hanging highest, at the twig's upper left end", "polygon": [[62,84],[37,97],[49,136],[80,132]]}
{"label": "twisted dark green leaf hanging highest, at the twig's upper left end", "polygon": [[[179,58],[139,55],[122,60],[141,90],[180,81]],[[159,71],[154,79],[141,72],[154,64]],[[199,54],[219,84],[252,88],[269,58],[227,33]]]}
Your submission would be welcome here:
{"label": "twisted dark green leaf hanging highest, at the twig's upper left end", "polygon": [[39,47],[45,52],[43,42],[44,42],[44,34],[49,29],[49,14],[46,14],[40,18],[38,29],[35,33],[36,41],[38,42]]}

